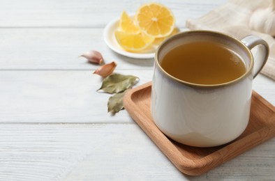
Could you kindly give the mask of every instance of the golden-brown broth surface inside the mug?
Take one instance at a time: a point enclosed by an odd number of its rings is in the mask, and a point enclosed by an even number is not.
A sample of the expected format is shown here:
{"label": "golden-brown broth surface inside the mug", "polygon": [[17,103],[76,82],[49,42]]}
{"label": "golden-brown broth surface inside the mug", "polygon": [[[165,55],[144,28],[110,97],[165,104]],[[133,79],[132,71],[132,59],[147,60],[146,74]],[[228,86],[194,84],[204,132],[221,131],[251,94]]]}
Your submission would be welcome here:
{"label": "golden-brown broth surface inside the mug", "polygon": [[244,61],[231,49],[215,42],[191,42],[163,57],[168,74],[193,84],[222,84],[246,72]]}

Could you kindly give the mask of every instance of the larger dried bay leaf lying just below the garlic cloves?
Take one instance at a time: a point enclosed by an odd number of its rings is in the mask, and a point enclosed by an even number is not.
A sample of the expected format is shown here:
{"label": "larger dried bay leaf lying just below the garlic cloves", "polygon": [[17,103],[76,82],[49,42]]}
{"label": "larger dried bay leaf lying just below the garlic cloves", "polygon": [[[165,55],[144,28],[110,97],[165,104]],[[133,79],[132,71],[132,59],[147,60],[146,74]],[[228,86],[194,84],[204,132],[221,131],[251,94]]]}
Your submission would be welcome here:
{"label": "larger dried bay leaf lying just below the garlic cloves", "polygon": [[138,77],[124,74],[111,74],[105,79],[98,91],[105,93],[121,93],[137,84]]}

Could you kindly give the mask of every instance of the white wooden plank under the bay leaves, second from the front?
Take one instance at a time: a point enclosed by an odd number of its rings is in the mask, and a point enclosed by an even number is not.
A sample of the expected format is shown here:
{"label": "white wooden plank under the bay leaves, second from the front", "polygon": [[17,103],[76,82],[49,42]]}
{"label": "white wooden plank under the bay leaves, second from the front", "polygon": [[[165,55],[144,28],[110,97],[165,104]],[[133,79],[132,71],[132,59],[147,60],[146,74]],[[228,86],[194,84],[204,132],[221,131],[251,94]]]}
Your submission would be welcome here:
{"label": "white wooden plank under the bay leaves, second from the front", "polygon": [[[151,81],[152,70],[117,70]],[[133,123],[126,111],[107,113],[109,94],[97,93],[101,77],[92,71],[0,71],[1,123]],[[275,104],[274,81],[262,75],[253,88]]]}

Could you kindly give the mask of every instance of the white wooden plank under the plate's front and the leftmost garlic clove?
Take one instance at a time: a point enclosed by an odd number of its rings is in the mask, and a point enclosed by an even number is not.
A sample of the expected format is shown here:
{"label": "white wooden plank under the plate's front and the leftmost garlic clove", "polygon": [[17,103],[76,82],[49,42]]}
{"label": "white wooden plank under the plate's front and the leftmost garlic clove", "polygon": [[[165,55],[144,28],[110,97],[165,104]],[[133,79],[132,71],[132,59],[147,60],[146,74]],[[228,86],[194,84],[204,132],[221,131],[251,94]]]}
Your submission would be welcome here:
{"label": "white wooden plank under the plate's front and the leftmost garlic clove", "polygon": [[113,52],[103,29],[0,29],[0,70],[95,70],[78,57],[96,49],[117,69],[151,69],[154,59],[133,59]]}

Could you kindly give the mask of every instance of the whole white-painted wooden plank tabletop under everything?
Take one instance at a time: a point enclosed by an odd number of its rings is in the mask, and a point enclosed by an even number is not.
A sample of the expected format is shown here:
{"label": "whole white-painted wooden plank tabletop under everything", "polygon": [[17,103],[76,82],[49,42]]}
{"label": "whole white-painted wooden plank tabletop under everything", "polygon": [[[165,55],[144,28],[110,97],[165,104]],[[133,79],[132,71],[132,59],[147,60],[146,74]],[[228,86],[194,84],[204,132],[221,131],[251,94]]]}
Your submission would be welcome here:
{"label": "whole white-painted wooden plank tabletop under everything", "polygon": [[[116,72],[151,80],[153,59],[112,52],[107,22],[146,1],[0,0],[0,180],[274,180],[275,139],[198,177],[180,173],[124,110],[107,113],[98,66],[80,54],[102,52]],[[159,1],[177,26],[225,0]],[[253,88],[275,104],[274,81]],[[275,120],[274,120],[275,121]]]}

